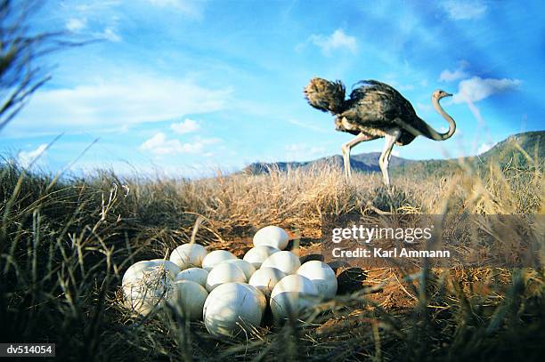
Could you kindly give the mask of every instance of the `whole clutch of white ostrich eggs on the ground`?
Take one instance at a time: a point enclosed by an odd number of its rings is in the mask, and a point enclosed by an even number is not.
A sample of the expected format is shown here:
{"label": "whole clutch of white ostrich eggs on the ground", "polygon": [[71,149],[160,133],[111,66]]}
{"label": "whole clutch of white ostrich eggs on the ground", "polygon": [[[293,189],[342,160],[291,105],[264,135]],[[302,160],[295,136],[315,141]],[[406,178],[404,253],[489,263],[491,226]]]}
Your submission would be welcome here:
{"label": "whole clutch of white ostrich eggs on the ground", "polygon": [[184,318],[202,320],[210,334],[234,336],[259,326],[270,306],[273,318],[297,318],[337,294],[337,278],[323,261],[303,265],[284,229],[267,226],[243,259],[198,244],[175,248],[169,260],[138,261],[122,281],[126,307],[146,315],[169,304]]}

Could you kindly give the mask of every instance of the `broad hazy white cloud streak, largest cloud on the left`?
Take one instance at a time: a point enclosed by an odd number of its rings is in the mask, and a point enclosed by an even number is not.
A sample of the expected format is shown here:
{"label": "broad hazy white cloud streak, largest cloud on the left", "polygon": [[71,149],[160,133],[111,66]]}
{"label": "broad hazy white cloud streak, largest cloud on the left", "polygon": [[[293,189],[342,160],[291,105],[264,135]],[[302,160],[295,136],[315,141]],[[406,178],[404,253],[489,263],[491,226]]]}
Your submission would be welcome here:
{"label": "broad hazy white cloud streak, largest cloud on the left", "polygon": [[38,92],[13,123],[13,130],[88,131],[164,121],[224,109],[232,93],[186,79],[122,70],[117,74],[117,78]]}

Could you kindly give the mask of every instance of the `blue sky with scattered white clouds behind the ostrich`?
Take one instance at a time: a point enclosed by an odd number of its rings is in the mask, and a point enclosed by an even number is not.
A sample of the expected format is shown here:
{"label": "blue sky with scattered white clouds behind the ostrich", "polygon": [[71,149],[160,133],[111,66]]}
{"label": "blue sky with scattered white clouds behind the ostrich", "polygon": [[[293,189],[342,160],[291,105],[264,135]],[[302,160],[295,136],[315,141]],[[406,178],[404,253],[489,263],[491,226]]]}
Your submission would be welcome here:
{"label": "blue sky with scattered white clouds behind the ostrich", "polygon": [[[47,58],[53,79],[0,133],[0,152],[74,172],[195,177],[254,161],[340,153],[351,135],[311,108],[313,76],[394,85],[444,131],[430,95],[457,121],[448,141],[419,137],[395,155],[475,155],[542,130],[541,1],[49,1],[33,21],[101,39]],[[380,151],[364,142],[354,153]]]}

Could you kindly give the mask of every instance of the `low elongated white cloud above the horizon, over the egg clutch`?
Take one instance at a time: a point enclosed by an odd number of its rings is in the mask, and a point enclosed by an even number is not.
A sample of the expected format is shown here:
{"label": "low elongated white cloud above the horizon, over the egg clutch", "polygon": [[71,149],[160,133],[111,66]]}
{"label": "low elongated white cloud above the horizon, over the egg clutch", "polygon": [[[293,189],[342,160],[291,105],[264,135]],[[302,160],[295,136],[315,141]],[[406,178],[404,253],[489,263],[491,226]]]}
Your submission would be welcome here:
{"label": "low elongated white cloud above the horizon, over the egg clutch", "polygon": [[[180,140],[168,139],[165,133],[156,133],[140,146],[142,151],[149,151],[154,155],[176,155],[187,153],[202,153],[206,146],[221,142],[218,138],[197,139],[182,143]],[[209,152],[207,152],[209,154]]]}

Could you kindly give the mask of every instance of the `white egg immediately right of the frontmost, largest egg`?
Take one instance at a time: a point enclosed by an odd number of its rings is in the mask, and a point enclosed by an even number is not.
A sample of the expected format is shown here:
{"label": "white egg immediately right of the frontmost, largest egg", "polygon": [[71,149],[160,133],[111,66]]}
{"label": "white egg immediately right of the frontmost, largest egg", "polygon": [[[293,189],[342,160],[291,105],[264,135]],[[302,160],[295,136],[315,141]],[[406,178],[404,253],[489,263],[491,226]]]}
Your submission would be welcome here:
{"label": "white egg immediately right of the frontmost, largest egg", "polygon": [[277,321],[297,318],[303,310],[313,306],[318,291],[308,278],[294,274],[282,278],[271,293],[271,310]]}

